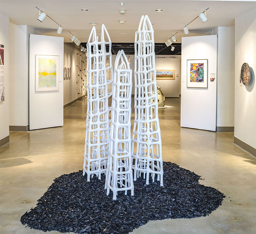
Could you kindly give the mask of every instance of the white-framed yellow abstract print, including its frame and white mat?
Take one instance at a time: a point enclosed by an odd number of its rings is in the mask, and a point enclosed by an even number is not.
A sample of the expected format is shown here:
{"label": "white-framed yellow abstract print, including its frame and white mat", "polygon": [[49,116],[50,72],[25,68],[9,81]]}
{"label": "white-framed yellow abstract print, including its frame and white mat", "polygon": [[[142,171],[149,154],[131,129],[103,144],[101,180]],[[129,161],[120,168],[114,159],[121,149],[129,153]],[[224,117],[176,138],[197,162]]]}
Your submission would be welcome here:
{"label": "white-framed yellow abstract print, including its frame and white mat", "polygon": [[59,90],[59,56],[35,55],[35,91]]}

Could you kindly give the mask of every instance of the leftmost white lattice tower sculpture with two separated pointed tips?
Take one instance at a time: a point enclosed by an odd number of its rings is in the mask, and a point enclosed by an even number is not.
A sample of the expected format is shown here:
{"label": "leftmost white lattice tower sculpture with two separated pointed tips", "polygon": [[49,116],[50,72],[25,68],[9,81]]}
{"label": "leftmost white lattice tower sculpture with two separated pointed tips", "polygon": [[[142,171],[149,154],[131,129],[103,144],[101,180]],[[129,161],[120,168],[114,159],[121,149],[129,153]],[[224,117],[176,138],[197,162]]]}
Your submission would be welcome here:
{"label": "leftmost white lattice tower sculpture with two separated pointed tips", "polygon": [[[105,38],[105,35],[107,38]],[[105,41],[106,40],[106,41]],[[106,173],[109,148],[109,105],[108,84],[113,81],[111,40],[105,26],[101,28],[98,41],[96,29],[91,30],[87,43],[87,117],[83,175],[90,176]],[[108,62],[108,65],[106,61]],[[107,80],[110,70],[111,79]]]}

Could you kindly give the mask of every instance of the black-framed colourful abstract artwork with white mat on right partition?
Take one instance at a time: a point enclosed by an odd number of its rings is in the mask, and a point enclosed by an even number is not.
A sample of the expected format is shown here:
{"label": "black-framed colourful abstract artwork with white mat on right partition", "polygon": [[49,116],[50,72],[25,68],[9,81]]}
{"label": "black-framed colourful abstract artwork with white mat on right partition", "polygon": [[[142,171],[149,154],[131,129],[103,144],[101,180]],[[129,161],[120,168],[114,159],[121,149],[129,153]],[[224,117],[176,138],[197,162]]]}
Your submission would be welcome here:
{"label": "black-framed colourful abstract artwork with white mat on right partition", "polygon": [[187,60],[187,88],[208,88],[208,59]]}

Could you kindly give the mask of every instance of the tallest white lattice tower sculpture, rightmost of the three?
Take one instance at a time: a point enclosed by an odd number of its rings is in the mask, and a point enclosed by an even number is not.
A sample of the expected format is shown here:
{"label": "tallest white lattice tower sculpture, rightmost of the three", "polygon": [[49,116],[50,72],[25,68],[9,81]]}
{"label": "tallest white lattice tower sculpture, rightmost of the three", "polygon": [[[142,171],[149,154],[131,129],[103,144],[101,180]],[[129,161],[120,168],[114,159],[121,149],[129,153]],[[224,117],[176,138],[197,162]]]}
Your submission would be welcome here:
{"label": "tallest white lattice tower sculpture, rightmost of the three", "polygon": [[[134,109],[132,157],[134,180],[143,173],[146,184],[160,180],[163,186],[162,141],[158,119],[154,30],[147,15],[140,20],[135,33]],[[154,94],[153,94],[154,93]]]}

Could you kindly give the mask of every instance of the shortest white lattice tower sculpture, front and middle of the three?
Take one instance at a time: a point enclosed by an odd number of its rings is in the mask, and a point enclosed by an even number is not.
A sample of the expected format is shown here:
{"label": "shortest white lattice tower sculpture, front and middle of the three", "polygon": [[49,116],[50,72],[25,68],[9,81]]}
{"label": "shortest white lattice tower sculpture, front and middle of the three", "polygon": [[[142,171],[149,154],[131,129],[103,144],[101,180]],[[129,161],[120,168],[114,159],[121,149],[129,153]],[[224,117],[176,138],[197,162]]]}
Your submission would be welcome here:
{"label": "shortest white lattice tower sculpture, front and middle of the three", "polygon": [[133,178],[131,161],[131,88],[132,70],[123,50],[119,50],[115,60],[114,82],[112,84],[112,106],[109,159],[106,171],[105,189],[107,195],[131,190]]}

